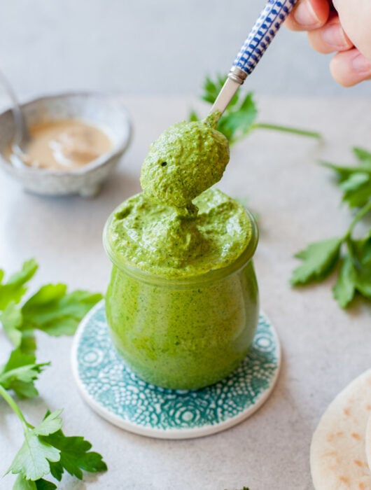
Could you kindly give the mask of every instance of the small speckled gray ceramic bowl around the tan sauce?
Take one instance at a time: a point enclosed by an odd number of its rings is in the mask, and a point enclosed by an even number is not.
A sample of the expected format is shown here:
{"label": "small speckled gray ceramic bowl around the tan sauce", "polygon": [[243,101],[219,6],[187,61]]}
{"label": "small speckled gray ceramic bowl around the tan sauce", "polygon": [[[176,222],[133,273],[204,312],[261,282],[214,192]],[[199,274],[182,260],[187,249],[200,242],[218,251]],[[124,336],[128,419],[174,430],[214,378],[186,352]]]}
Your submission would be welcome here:
{"label": "small speckled gray ceramic bowl around the tan sauce", "polygon": [[0,114],[0,167],[31,193],[96,195],[130,143],[132,125],[120,100],[104,94],[81,92],[40,97],[22,104],[21,108],[27,126],[65,119],[79,119],[96,125],[109,136],[112,149],[78,169],[14,167],[7,159],[14,134],[13,114],[9,109]]}

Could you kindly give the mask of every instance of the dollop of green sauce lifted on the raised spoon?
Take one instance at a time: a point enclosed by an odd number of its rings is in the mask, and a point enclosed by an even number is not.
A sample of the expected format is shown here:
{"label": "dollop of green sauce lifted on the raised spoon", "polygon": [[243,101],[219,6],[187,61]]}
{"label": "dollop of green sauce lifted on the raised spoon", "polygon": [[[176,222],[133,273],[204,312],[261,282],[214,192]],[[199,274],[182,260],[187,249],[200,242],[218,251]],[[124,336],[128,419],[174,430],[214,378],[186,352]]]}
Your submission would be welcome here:
{"label": "dollop of green sauce lifted on the raised spoon", "polygon": [[141,167],[141,186],[154,202],[189,207],[195,197],[221,180],[230,159],[228,140],[215,127],[217,115],[204,122],[170,126],[150,146]]}

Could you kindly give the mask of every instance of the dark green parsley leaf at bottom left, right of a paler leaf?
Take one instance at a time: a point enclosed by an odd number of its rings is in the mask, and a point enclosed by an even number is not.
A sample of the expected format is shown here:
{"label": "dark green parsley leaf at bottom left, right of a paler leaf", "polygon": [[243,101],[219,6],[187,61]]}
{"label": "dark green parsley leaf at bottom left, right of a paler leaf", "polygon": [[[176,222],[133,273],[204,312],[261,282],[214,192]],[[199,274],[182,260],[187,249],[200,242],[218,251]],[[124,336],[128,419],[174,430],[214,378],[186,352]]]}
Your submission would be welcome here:
{"label": "dark green parsley leaf at bottom left, right of a paler leaf", "polygon": [[60,451],[59,461],[50,463],[50,471],[59,482],[64,470],[78,479],[83,479],[82,470],[101,472],[107,469],[102,456],[90,451],[92,444],[83,437],[66,437],[62,430],[58,430],[48,437],[43,437],[43,441]]}

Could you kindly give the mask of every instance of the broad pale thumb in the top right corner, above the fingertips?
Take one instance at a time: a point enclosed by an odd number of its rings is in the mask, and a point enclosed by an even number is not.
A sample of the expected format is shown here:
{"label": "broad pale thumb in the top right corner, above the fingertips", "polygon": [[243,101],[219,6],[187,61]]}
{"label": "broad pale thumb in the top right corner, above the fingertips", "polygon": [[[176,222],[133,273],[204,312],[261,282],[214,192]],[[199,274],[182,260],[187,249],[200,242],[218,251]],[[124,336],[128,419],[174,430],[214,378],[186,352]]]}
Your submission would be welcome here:
{"label": "broad pale thumb in the top right corner, above the fingertips", "polygon": [[358,50],[371,61],[371,1],[333,0],[346,35]]}

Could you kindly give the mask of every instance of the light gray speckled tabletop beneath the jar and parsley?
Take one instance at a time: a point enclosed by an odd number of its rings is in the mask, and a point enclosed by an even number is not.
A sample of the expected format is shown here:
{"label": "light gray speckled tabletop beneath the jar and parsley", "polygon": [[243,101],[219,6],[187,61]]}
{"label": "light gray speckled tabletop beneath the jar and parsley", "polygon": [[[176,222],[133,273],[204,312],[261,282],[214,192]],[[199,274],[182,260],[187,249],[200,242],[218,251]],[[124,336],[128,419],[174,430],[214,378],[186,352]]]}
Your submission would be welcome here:
{"label": "light gray speckled tabletop beneath the jar and parsley", "polygon": [[[134,118],[130,151],[95,200],[42,198],[22,193],[0,176],[0,265],[7,271],[35,257],[34,287],[65,281],[71,288],[103,291],[109,260],[102,227],[116,205],[139,190],[139,168],[148,144],[186,116],[191,101],[134,98],[125,102]],[[36,423],[46,406],[64,407],[65,432],[85,435],[102,452],[109,471],[85,484],[66,477],[64,490],[311,490],[309,444],[319,417],[335,394],[370,367],[371,309],[358,303],[342,311],[330,283],[293,290],[288,286],[293,253],[308,241],[342,234],[349,215],[339,207],[322,158],[350,162],[349,146],[370,147],[371,111],[365,101],[259,98],[260,121],[321,130],[326,143],[272,132],[255,132],[232,150],[221,188],[248,197],[259,214],[255,266],[262,309],[279,332],[283,367],[265,405],[238,426],[196,440],[153,440],[126,433],[102,420],[78,395],[69,363],[71,338],[38,336],[38,358],[52,367],[38,382],[41,398],[21,402]],[[345,117],[346,116],[346,117]],[[1,353],[7,342],[0,334]],[[3,358],[3,356],[1,356]],[[16,417],[0,401],[0,473],[22,440]],[[12,477],[0,480],[10,489]],[[330,490],[330,489],[329,489]]]}

